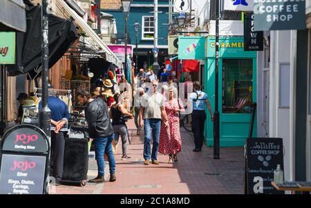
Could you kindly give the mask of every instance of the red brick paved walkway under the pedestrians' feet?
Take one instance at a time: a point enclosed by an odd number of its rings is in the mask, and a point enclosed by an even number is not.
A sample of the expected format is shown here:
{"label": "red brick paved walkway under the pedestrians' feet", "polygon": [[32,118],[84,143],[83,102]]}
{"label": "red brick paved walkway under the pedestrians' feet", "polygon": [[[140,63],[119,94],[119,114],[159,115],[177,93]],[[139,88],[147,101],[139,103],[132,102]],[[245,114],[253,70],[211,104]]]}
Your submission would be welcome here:
{"label": "red brick paved walkway under the pedestrians' feet", "polygon": [[[132,121],[128,125],[134,129]],[[130,160],[121,160],[122,148],[118,146],[114,183],[88,183],[86,187],[62,185],[56,187],[56,194],[243,194],[243,147],[222,148],[220,160],[214,160],[212,148],[192,152],[193,136],[184,130],[178,163],[170,165],[168,156],[159,154],[160,165],[146,166],[142,158],[143,138],[135,132],[130,130]],[[108,167],[105,172],[109,172]],[[96,162],[90,160],[88,178],[96,175]]]}

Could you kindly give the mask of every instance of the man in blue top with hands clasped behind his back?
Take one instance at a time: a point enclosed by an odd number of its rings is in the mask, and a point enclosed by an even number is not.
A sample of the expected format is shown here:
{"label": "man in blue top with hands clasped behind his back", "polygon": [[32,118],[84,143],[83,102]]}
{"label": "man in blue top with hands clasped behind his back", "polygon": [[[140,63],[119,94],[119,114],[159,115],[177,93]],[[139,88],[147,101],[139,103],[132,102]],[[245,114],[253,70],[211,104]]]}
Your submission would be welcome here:
{"label": "man in blue top with hands clasped behind his back", "polygon": [[[64,101],[56,97],[56,92],[49,89],[48,108],[50,109],[51,161],[53,161],[53,177],[55,185],[60,185],[64,166],[65,137],[68,132],[69,111]],[[39,109],[42,103],[39,103]],[[51,165],[52,167],[52,165]]]}

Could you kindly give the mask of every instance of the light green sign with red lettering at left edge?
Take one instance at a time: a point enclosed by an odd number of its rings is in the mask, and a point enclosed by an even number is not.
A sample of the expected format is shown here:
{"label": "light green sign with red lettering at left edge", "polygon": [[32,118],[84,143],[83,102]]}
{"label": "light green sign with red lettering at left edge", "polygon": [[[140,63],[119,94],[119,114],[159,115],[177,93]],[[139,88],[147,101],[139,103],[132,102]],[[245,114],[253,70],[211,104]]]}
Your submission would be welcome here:
{"label": "light green sign with red lettering at left edge", "polygon": [[0,32],[0,64],[15,64],[15,32]]}

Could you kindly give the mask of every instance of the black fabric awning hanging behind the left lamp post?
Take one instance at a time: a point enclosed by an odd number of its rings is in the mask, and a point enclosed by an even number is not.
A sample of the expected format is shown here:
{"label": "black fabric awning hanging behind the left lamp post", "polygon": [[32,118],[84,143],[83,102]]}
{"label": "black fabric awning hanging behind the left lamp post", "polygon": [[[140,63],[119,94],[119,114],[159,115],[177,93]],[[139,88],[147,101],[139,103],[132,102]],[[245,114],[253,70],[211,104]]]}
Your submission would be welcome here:
{"label": "black fabric awning hanging behind the left lamp post", "polygon": [[[9,76],[26,74],[35,79],[41,74],[41,6],[28,6],[27,32],[17,32],[16,64],[8,65]],[[48,67],[52,67],[78,38],[73,19],[48,14]]]}

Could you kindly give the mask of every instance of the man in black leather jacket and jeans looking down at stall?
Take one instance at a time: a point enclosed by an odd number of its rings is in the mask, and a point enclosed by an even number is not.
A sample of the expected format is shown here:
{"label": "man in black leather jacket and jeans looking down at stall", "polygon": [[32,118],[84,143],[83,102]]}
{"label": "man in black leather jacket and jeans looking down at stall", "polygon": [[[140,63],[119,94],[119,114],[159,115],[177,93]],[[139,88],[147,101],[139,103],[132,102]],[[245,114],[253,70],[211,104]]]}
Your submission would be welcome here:
{"label": "man in black leather jacket and jeans looking down at stall", "polygon": [[98,175],[91,183],[104,183],[104,153],[107,154],[110,167],[110,181],[115,181],[115,156],[112,141],[113,127],[109,118],[108,107],[102,99],[93,99],[86,90],[77,93],[79,103],[85,107],[85,117],[88,122],[88,134],[94,139],[95,156],[97,160]]}

